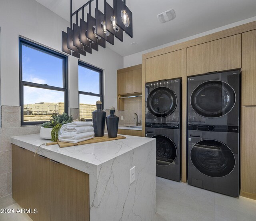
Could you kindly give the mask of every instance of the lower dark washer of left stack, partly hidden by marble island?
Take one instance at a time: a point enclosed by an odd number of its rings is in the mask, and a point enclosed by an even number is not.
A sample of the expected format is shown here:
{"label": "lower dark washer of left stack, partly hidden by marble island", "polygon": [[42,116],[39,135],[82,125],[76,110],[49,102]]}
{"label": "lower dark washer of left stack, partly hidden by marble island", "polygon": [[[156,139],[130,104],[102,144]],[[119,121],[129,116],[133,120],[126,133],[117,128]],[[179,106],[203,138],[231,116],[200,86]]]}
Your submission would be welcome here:
{"label": "lower dark washer of left stack, partly hidden by marble island", "polygon": [[180,181],[180,130],[174,128],[146,127],[146,137],[156,138],[156,175]]}

